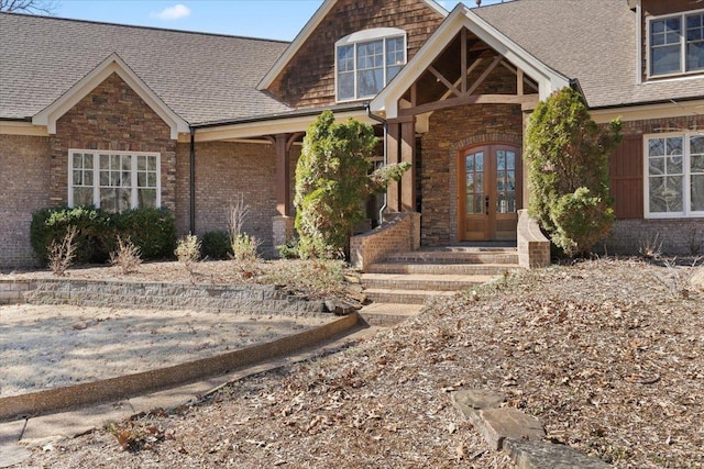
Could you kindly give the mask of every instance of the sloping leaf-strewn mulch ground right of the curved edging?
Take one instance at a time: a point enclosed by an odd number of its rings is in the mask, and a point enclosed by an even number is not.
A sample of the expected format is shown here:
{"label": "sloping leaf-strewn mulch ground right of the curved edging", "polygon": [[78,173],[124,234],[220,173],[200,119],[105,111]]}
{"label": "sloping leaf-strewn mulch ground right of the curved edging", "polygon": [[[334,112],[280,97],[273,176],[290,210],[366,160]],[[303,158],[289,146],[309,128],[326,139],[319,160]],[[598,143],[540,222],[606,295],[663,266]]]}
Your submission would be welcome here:
{"label": "sloping leaf-strewn mulch ground right of the curved edging", "polygon": [[617,468],[701,468],[694,272],[639,259],[521,271],[199,404],[36,447],[25,466],[513,467],[451,404],[453,390],[477,388],[506,393],[552,442]]}

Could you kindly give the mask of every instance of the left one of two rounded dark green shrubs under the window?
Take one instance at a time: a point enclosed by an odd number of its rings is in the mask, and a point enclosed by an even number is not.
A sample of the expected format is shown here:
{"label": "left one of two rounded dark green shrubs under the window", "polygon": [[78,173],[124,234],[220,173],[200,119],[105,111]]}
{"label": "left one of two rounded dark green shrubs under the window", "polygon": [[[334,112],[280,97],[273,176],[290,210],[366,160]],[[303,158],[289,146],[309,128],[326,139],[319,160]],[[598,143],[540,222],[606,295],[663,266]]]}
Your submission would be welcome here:
{"label": "left one of two rounded dark green shrubs under the window", "polygon": [[69,226],[76,227],[75,264],[105,263],[109,257],[109,216],[89,206],[42,209],[32,214],[30,243],[34,255],[47,264],[52,244],[62,243]]}

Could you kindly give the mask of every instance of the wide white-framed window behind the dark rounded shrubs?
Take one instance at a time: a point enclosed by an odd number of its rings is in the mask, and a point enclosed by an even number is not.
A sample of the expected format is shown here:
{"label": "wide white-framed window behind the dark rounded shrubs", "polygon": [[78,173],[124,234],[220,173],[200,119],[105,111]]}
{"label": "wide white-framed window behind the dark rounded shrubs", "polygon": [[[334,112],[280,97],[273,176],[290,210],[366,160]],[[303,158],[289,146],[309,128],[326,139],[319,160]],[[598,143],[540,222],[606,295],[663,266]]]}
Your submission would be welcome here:
{"label": "wide white-framed window behind the dark rounded shrubs", "polygon": [[110,212],[158,208],[160,168],[158,153],[69,149],[68,205]]}

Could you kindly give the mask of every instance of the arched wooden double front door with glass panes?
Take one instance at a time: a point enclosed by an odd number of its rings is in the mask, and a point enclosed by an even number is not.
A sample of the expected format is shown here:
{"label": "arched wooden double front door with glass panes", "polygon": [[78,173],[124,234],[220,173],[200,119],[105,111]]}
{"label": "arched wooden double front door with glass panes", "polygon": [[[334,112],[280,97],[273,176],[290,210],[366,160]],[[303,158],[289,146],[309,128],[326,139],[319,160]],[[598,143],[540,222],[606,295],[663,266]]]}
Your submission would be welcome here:
{"label": "arched wooden double front door with glass panes", "polygon": [[492,144],[459,154],[460,241],[516,239],[521,204],[520,150]]}

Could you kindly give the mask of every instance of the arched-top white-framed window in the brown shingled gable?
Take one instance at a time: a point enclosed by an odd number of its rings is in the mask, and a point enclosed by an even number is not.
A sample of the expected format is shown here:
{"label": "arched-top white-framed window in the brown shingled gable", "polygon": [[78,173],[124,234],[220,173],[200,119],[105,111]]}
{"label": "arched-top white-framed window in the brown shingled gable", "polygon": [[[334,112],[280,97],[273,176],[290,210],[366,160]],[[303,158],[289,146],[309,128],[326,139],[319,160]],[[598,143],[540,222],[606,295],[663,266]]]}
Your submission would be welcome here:
{"label": "arched-top white-framed window in the brown shingled gable", "polygon": [[337,101],[376,96],[406,65],[406,32],[395,27],[350,34],[334,48]]}

